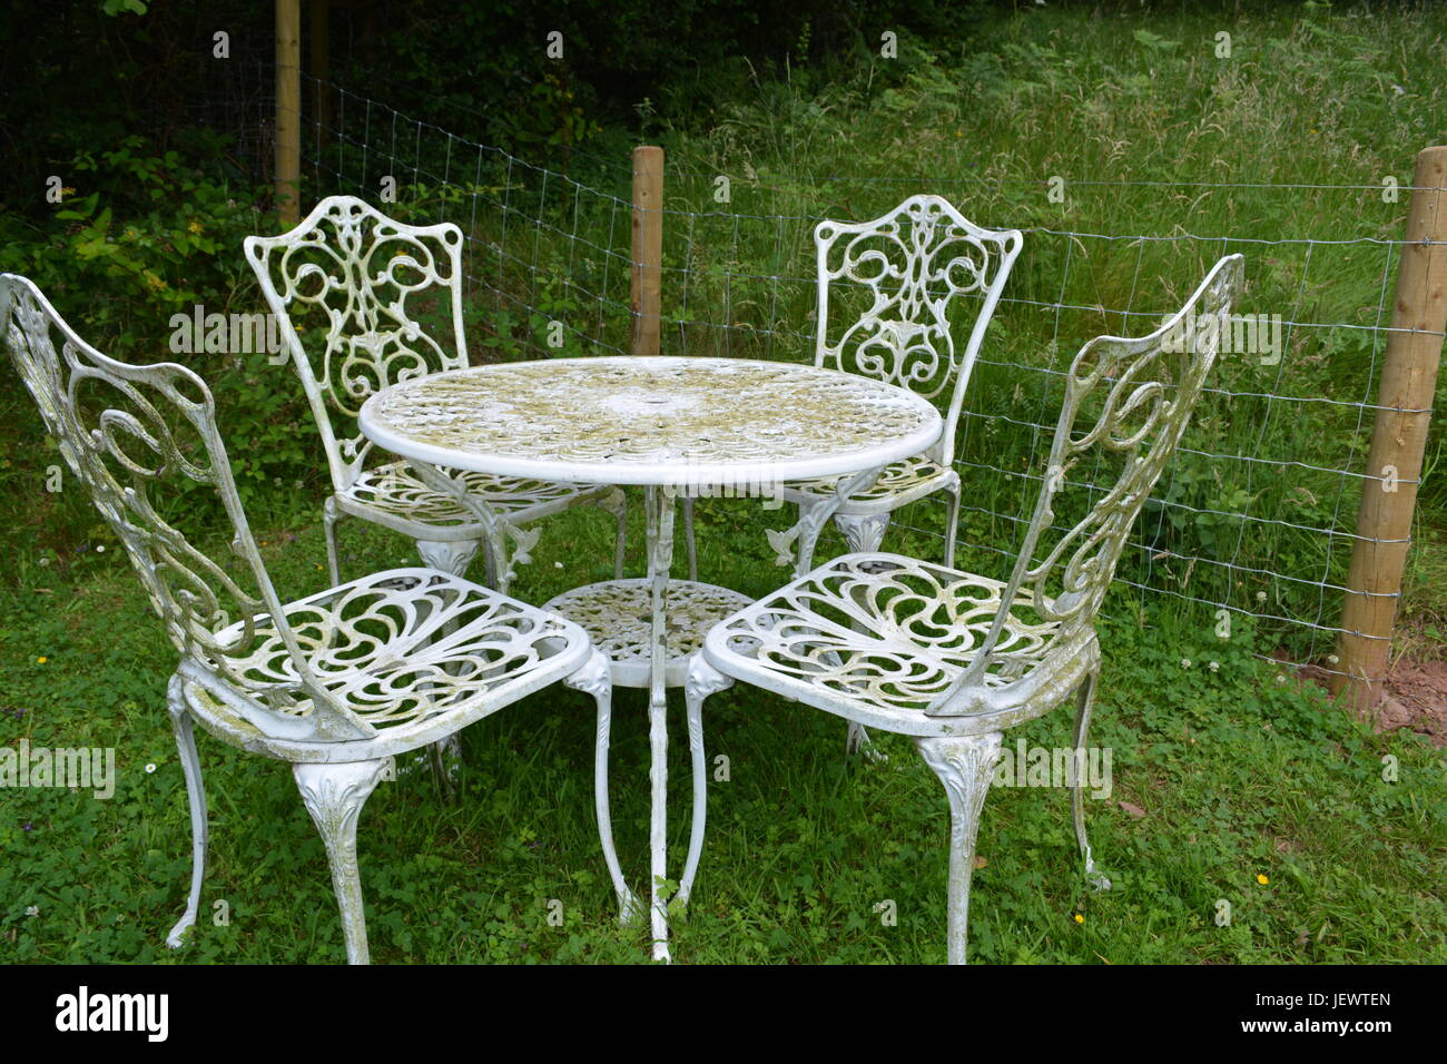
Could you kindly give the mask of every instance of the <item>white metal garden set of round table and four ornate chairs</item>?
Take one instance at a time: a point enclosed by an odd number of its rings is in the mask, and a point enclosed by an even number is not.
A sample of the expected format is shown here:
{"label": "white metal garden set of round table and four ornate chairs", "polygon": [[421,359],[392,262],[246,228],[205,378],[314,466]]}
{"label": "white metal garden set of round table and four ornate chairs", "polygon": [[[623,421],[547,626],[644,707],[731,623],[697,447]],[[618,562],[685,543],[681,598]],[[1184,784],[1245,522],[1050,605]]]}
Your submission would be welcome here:
{"label": "white metal garden set of round table and four ornate chairs", "polygon": [[[205,382],[179,365],[107,358],[30,281],[0,275],[13,363],[179,651],[168,709],[194,860],[172,947],[197,919],[208,843],[194,724],[291,764],[326,844],[347,958],[366,963],[356,832],[368,796],[414,751],[447,786],[463,728],[563,683],[596,702],[595,805],[618,916],[647,918],[654,958],[669,960],[669,915],[686,905],[703,854],[703,705],[742,682],[844,718],[849,750],[873,750],[870,728],[913,738],[949,803],[946,941],[949,961],[964,963],[975,832],[1001,734],[1074,699],[1074,746],[1084,751],[1100,673],[1095,617],[1223,330],[1201,330],[1198,343],[1171,337],[1182,321],[1224,320],[1242,256],[1217,262],[1150,334],[1081,347],[1062,373],[1039,495],[1000,580],[954,567],[962,491],[954,447],[1022,235],[913,195],[871,221],[822,221],[815,243],[810,363],[684,355],[472,366],[457,226],[402,224],[339,195],[288,233],[249,237],[245,255],[281,318],[331,476],[330,586],[289,601],[258,552]],[[446,305],[424,307],[418,294],[437,291]],[[956,349],[951,313],[965,304],[972,323]],[[1114,479],[1090,492],[1077,485],[1075,505],[1065,505],[1069,470],[1087,459]],[[224,549],[172,523],[175,492],[195,485],[226,512]],[[794,524],[770,530],[761,552],[761,563],[793,566],[790,582],[754,601],[699,580],[690,499],[710,485],[751,486],[745,494],[796,507]],[[641,491],[647,530],[647,573],[634,578],[624,575],[627,489]],[[881,552],[893,511],[936,492],[948,495],[943,557]],[[687,579],[673,573],[680,501]],[[540,527],[574,507],[616,521],[615,578],[540,605],[515,596]],[[336,524],[344,515],[411,537],[423,563],[343,579]],[[831,520],[849,553],[815,566]],[[475,582],[466,572],[479,550]],[[615,686],[648,692],[647,900],[614,845]],[[683,689],[693,773],[671,903],[670,688]],[[1072,811],[1085,874],[1106,887],[1078,777]]]}

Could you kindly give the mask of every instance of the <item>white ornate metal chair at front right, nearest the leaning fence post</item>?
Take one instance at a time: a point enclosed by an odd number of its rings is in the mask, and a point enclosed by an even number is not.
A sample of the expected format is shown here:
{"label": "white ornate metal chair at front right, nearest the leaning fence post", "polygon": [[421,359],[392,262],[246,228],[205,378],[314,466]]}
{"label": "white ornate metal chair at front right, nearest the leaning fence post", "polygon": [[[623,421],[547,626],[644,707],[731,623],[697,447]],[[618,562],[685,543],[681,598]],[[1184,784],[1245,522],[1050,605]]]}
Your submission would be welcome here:
{"label": "white ornate metal chair at front right, nearest the leaning fence post", "polygon": [[[1001,732],[1072,692],[1075,835],[1092,884],[1110,886],[1085,837],[1079,773],[1100,673],[1095,615],[1215,359],[1242,263],[1240,255],[1217,262],[1149,336],[1100,336],[1081,347],[1007,582],[900,554],[845,554],[721,621],[690,662],[690,719],[706,693],[745,680],[915,740],[949,798],[951,963],[965,960],[975,831]],[[1182,334],[1188,321],[1195,332]],[[1094,501],[1066,479],[1085,462],[1120,466]],[[1068,511],[1061,523],[1058,511]]]}

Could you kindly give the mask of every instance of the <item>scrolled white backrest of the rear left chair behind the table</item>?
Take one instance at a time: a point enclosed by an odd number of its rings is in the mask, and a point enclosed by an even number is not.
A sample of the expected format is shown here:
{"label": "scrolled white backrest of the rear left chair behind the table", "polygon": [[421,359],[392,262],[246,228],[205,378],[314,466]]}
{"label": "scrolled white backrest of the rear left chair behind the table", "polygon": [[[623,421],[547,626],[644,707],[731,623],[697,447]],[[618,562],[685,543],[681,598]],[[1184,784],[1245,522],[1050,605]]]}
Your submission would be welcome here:
{"label": "scrolled white backrest of the rear left chair behind the table", "polygon": [[[330,195],[289,233],[246,237],[246,261],[281,320],[333,485],[346,491],[372,449],[356,424],[362,404],[398,381],[467,365],[462,230],[408,226],[355,195]],[[428,300],[447,311],[433,326],[417,320]]]}

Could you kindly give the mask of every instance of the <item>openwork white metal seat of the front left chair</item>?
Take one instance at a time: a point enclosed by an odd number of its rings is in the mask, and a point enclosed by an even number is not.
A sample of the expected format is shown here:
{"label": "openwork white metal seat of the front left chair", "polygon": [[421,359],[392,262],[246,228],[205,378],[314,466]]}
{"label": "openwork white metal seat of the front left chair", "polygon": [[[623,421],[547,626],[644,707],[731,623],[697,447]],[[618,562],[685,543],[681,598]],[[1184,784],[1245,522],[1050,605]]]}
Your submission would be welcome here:
{"label": "openwork white metal seat of the front left chair", "polygon": [[[284,612],[313,675],[360,725],[363,741],[365,732],[389,740],[423,728],[453,732],[570,675],[590,650],[586,633],[572,621],[434,569],[373,573],[288,602]],[[266,691],[292,693],[297,701],[285,712],[297,718],[298,731],[279,735],[273,719],[246,719],[237,699],[198,704],[194,689],[192,708],[258,741],[305,740],[313,702],[301,689],[295,659],[269,617],[255,624],[249,643],[242,622],[218,631],[216,641],[245,643],[246,654],[227,656],[226,666],[259,698]],[[205,664],[220,663],[211,657]],[[275,709],[276,699],[269,701]],[[405,750],[423,741],[428,740],[388,746]]]}

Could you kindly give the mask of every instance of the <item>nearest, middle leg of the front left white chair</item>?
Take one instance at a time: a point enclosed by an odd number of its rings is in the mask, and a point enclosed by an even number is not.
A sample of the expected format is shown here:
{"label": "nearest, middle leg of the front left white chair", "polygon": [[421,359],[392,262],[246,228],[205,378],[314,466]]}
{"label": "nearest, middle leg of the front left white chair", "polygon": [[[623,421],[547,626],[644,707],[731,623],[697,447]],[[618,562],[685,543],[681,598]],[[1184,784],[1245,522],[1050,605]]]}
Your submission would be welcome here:
{"label": "nearest, middle leg of the front left white chair", "polygon": [[357,818],[386,766],[385,757],[370,761],[291,766],[301,801],[327,847],[331,886],[337,892],[341,932],[347,940],[347,964],[366,964],[369,960],[362,874],[357,870]]}

